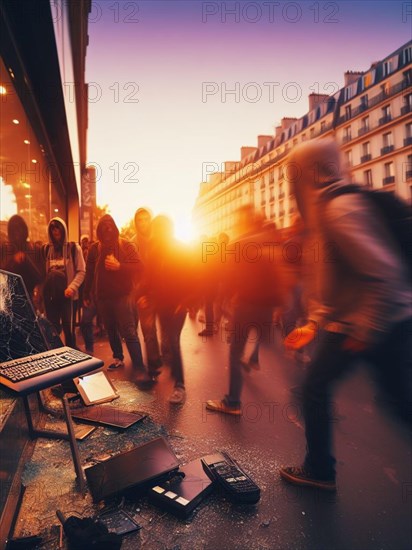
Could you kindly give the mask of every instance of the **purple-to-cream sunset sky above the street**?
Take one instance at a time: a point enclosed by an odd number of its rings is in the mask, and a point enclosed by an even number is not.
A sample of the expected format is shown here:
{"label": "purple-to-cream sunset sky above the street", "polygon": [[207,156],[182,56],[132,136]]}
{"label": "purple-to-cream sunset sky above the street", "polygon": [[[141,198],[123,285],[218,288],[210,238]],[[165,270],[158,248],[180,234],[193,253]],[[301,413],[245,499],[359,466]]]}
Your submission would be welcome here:
{"label": "purple-to-cream sunset sky above the street", "polygon": [[[140,206],[190,236],[205,163],[334,93],[410,40],[404,1],[93,1],[88,160],[119,226]],[[266,83],[266,84],[265,84]],[[270,84],[272,83],[272,84]],[[232,93],[230,93],[232,91]]]}

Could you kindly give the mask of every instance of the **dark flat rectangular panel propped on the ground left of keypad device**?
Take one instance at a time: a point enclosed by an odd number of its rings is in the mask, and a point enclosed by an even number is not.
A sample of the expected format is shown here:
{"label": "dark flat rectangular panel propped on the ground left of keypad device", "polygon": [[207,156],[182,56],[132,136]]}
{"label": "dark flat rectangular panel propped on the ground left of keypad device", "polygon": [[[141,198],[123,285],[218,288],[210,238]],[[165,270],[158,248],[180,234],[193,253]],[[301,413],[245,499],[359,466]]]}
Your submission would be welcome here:
{"label": "dark flat rectangular panel propped on the ground left of keypad device", "polygon": [[85,469],[93,502],[123,493],[142,491],[160,482],[179,462],[163,437],[152,439],[131,451],[120,453]]}

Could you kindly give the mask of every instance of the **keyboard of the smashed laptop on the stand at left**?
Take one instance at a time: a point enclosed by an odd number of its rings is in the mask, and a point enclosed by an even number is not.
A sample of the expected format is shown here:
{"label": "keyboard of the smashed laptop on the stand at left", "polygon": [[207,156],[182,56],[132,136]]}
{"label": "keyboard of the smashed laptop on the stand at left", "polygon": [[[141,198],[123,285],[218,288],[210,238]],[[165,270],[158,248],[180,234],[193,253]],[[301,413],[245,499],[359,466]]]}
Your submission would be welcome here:
{"label": "keyboard of the smashed laptop on the stand at left", "polygon": [[91,355],[82,351],[67,347],[57,348],[1,363],[0,375],[11,382],[21,382],[88,359],[91,359]]}

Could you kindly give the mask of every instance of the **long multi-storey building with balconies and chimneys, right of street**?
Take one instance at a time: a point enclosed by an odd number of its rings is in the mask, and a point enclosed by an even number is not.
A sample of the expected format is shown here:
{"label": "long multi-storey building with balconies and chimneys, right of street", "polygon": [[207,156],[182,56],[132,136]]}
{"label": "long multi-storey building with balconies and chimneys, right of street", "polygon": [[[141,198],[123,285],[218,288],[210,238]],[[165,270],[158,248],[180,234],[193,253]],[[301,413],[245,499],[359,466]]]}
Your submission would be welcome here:
{"label": "long multi-storey building with balconies and chimneys, right of street", "polygon": [[253,204],[278,228],[288,227],[296,205],[285,176],[288,152],[302,141],[333,136],[353,181],[412,199],[412,41],[366,72],[345,73],[335,94],[311,94],[301,118],[283,118],[273,136],[242,147],[240,161],[200,184],[193,209],[199,234],[233,236],[234,212]]}

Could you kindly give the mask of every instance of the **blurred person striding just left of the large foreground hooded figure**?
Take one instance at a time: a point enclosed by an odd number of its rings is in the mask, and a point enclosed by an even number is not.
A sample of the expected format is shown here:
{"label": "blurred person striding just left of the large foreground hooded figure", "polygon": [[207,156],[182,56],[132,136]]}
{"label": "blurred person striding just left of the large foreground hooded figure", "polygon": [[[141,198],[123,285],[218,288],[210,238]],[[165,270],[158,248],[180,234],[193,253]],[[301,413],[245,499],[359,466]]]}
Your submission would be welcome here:
{"label": "blurred person striding just left of the large foreground hooded figure", "polygon": [[[273,339],[273,309],[284,298],[284,276],[280,258],[275,255],[276,232],[264,228],[263,219],[252,205],[237,211],[238,238],[229,243],[226,293],[231,297],[229,321],[229,391],[221,400],[209,400],[206,408],[240,415],[243,370],[258,362],[260,342]],[[277,247],[279,248],[279,247]]]}

